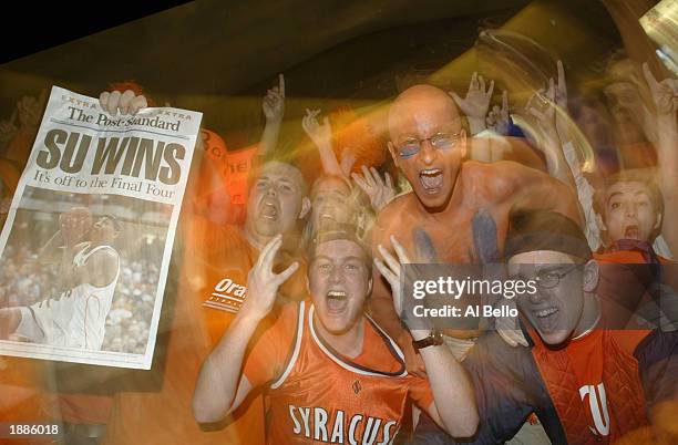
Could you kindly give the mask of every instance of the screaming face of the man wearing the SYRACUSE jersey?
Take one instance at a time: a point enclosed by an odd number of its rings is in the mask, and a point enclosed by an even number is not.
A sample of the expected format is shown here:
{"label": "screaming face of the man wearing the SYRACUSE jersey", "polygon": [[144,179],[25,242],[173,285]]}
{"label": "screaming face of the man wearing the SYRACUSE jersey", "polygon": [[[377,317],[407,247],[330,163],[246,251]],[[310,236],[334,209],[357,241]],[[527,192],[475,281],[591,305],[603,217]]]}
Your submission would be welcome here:
{"label": "screaming face of the man wearing the SYRACUSE jersey", "polygon": [[372,280],[368,258],[355,241],[337,239],[320,244],[308,270],[308,287],[322,328],[343,334],[357,324]]}

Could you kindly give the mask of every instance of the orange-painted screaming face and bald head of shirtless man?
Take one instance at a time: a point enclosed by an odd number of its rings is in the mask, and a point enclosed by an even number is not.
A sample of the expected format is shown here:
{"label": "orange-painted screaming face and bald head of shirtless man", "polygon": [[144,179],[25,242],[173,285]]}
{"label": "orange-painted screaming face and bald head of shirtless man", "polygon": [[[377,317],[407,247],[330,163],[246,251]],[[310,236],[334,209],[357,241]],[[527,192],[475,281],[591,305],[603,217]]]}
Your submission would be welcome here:
{"label": "orange-painted screaming face and bald head of shirtless man", "polygon": [[403,92],[389,112],[393,161],[427,208],[443,207],[454,188],[465,136],[452,99],[429,85]]}

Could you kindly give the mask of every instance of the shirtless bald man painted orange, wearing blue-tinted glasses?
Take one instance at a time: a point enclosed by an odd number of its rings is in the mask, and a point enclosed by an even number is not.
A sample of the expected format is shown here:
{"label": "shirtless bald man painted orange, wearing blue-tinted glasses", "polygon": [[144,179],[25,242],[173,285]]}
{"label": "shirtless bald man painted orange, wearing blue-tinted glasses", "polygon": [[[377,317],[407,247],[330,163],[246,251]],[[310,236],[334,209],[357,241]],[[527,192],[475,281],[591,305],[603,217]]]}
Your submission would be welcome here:
{"label": "shirtless bald man painted orange, wearing blue-tinted glasses", "polygon": [[[418,252],[420,261],[481,262],[487,258],[474,248],[474,238],[482,238],[482,230],[473,234],[472,229],[476,215],[493,219],[500,250],[512,209],[551,209],[579,220],[576,196],[557,179],[512,162],[464,162],[469,142],[461,115],[454,101],[434,86],[415,85],[401,93],[391,105],[388,125],[389,151],[414,193],[394,199],[380,213],[372,235],[374,250],[396,235],[405,249]],[[370,310],[403,349],[408,370],[423,373],[412,339],[393,311],[391,292],[378,276]],[[443,333],[479,334],[475,330]]]}

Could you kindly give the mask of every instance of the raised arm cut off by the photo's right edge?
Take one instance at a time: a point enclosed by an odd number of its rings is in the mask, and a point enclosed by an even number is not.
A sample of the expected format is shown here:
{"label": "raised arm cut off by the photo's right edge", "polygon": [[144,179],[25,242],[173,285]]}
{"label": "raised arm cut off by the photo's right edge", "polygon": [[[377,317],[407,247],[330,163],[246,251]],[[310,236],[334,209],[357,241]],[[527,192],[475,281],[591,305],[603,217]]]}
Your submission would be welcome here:
{"label": "raised arm cut off by the photo's right edge", "polygon": [[661,235],[671,252],[678,252],[678,81],[669,77],[657,82],[647,63],[643,72],[657,113],[658,184],[664,197]]}

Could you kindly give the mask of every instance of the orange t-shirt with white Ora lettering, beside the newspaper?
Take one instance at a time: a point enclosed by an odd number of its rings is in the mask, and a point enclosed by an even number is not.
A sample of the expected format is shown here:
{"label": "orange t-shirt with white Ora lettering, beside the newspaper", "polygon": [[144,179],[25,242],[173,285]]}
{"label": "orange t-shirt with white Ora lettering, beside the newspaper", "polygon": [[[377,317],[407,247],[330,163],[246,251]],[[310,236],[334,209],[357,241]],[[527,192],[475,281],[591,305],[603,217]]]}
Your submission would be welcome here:
{"label": "orange t-shirt with white Ora lettering, beside the newspaper", "polygon": [[[213,293],[244,294],[242,288],[247,286],[247,273],[258,251],[247,242],[239,227],[215,225],[203,218],[195,218],[186,227],[184,239],[187,247],[173,308],[164,372],[157,382],[160,390],[119,393],[104,444],[257,445],[265,441],[260,396],[238,410],[225,427],[209,427],[210,431],[197,424],[192,411],[203,362],[235,318],[226,304],[219,304],[230,300],[223,297],[215,300]],[[287,283],[305,289],[300,286],[305,271],[299,269]],[[225,284],[226,280],[230,280],[230,284]]]}

